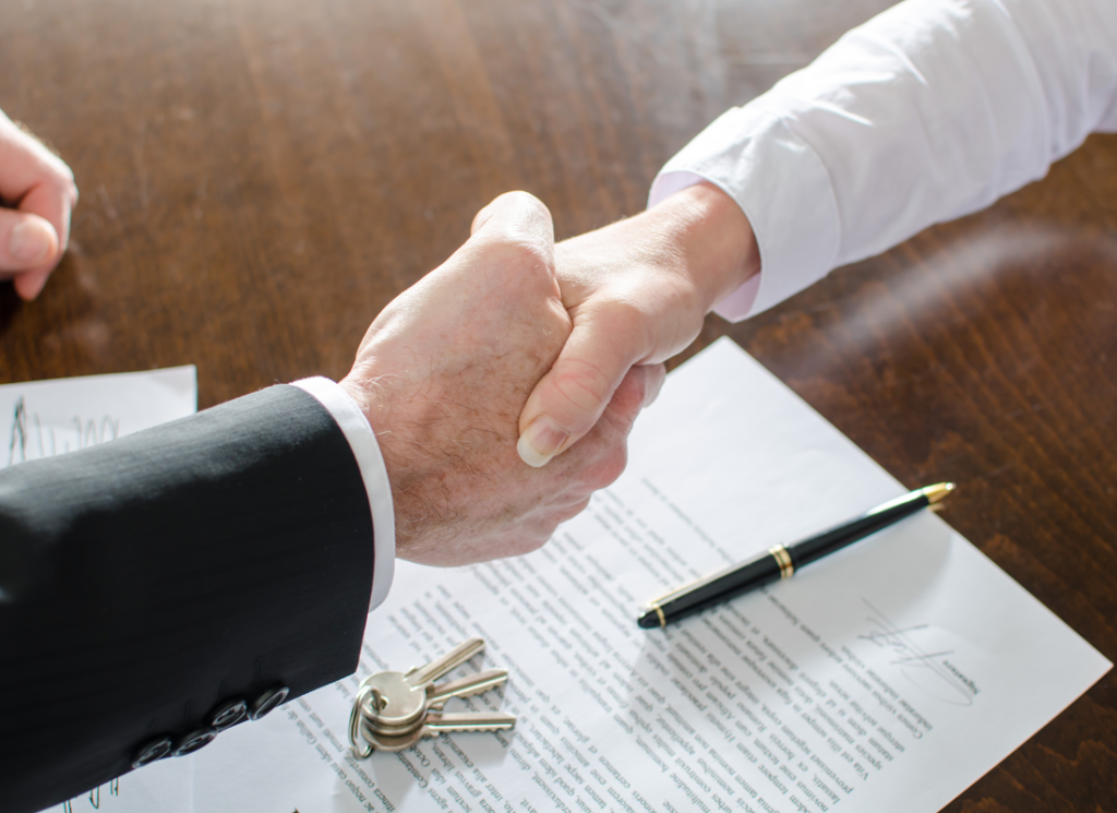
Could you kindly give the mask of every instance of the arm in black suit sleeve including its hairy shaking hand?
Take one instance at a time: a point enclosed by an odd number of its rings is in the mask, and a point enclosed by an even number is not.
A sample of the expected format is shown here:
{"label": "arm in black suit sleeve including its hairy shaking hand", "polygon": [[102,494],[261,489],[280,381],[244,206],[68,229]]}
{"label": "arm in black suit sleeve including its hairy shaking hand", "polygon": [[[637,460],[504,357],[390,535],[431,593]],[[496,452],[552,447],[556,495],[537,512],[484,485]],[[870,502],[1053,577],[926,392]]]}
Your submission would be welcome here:
{"label": "arm in black suit sleeve including its hairy shaking hand", "polygon": [[[0,471],[6,812],[204,739],[230,702],[353,672],[392,557],[362,437],[394,547],[427,563],[532,549],[615,478],[662,367],[629,376],[562,467],[516,457],[519,408],[570,331],[552,243],[542,204],[505,195],[378,316],[341,388],[270,388]],[[346,403],[363,423],[344,425]]]}

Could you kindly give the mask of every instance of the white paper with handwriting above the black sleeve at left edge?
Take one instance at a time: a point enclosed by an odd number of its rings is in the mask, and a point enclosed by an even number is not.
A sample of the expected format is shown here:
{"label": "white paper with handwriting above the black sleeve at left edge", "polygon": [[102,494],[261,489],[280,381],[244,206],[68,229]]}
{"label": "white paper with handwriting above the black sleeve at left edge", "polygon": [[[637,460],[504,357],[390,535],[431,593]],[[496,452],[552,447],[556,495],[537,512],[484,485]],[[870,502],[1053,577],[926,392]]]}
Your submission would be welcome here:
{"label": "white paper with handwriting above the black sleeve at left edge", "polygon": [[85,449],[198,410],[194,366],[0,386],[0,468]]}

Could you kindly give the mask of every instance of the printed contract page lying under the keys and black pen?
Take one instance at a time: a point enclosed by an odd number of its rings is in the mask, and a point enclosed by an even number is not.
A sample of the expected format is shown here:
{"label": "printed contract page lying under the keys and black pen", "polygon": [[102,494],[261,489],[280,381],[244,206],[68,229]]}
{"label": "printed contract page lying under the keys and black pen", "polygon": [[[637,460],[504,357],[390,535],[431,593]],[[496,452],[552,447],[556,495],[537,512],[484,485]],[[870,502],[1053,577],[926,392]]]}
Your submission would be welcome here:
{"label": "printed contract page lying under the keys and black pen", "polygon": [[[640,630],[649,599],[907,489],[728,339],[669,376],[630,448],[541,551],[400,566],[359,675],[199,752],[195,810],[932,813],[1110,667],[926,510]],[[514,730],[350,754],[361,678],[475,635],[468,668],[508,683],[447,709]]]}

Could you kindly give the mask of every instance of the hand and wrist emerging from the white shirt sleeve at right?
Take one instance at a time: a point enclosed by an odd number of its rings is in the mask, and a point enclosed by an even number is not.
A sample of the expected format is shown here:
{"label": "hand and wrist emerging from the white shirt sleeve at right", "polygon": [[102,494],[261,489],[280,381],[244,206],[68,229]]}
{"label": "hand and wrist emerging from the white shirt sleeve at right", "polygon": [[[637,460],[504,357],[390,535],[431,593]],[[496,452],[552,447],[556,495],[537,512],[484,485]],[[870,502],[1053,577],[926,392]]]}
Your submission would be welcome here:
{"label": "hand and wrist emerging from the white shirt sleeve at right", "polygon": [[631,371],[685,348],[714,305],[760,272],[748,219],[707,183],[558,243],[556,256],[573,329],[519,418],[531,466],[590,432]]}

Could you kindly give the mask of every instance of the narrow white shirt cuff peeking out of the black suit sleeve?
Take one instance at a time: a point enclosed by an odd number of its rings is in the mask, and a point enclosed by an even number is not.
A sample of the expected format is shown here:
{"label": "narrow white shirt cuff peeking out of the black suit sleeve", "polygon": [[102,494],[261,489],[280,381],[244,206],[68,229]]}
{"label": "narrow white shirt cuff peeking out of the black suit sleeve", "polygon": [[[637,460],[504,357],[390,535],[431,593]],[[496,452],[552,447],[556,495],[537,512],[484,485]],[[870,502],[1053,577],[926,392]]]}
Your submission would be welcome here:
{"label": "narrow white shirt cuff peeking out of the black suit sleeve", "polygon": [[353,399],[330,379],[303,379],[292,382],[292,385],[308,392],[333,415],[361,469],[364,490],[369,495],[374,536],[375,566],[372,575],[372,599],[369,602],[369,612],[372,612],[388,597],[388,591],[392,586],[392,573],[395,570],[395,513],[392,507],[392,487],[388,481],[388,469],[380,453],[376,434]]}

